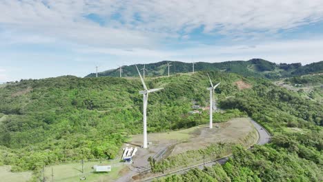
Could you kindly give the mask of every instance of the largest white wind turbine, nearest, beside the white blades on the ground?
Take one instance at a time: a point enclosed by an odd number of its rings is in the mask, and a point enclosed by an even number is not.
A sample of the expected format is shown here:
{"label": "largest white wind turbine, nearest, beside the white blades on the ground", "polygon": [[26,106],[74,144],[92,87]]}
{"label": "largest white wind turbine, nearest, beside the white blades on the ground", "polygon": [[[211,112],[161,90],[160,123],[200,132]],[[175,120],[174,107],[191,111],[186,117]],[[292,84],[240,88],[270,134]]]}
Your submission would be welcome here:
{"label": "largest white wind turbine, nearest, beside the white blades on the ground", "polygon": [[139,69],[138,69],[137,65],[136,65],[136,68],[137,68],[139,77],[141,79],[141,83],[144,86],[144,90],[139,91],[139,94],[143,94],[143,96],[144,96],[144,108],[143,108],[143,112],[144,112],[144,114],[143,114],[144,115],[143,116],[143,121],[144,121],[144,145],[143,145],[143,147],[144,148],[147,148],[147,105],[148,105],[148,93],[156,92],[156,91],[161,90],[163,88],[153,88],[153,89],[148,90],[148,88],[147,88],[147,86],[145,84],[144,79],[141,77],[141,74],[139,72]]}

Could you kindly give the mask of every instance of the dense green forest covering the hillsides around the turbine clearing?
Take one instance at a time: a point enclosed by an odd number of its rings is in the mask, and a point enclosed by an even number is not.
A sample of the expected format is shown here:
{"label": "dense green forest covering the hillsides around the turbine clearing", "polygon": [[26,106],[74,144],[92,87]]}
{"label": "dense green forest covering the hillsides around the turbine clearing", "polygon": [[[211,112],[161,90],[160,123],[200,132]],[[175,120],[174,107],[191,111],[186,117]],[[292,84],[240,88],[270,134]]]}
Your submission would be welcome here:
{"label": "dense green forest covering the hillsides around the turbine clearing", "polygon": [[[273,134],[272,143],[251,151],[237,146],[223,166],[162,181],[322,181],[322,103],[267,79],[220,71],[210,76],[222,82],[215,90],[219,106],[262,123]],[[237,81],[250,87],[241,90]],[[164,87],[150,94],[148,132],[208,122],[207,112],[188,113],[193,101],[208,104],[206,72],[150,77],[146,84]],[[6,84],[0,88],[0,163],[22,171],[75,159],[115,158],[130,134],[141,133],[139,90],[137,78],[66,76]],[[225,113],[215,114],[214,121],[225,118]]]}

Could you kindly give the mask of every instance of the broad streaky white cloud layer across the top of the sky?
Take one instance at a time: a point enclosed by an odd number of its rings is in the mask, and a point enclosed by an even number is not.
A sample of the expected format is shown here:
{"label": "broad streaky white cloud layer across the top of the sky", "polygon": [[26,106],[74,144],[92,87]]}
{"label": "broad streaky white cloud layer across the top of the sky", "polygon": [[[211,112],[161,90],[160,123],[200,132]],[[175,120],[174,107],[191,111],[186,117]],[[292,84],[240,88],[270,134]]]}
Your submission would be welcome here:
{"label": "broad streaky white cloud layer across the top of the sky", "polygon": [[[86,44],[149,46],[204,26],[205,33],[234,37],[264,34],[322,20],[322,0],[3,0],[0,23]],[[105,26],[85,19],[97,14]],[[117,17],[112,19],[112,17]],[[259,33],[261,32],[261,33]],[[187,37],[187,36],[184,36]],[[151,46],[151,45],[150,45]]]}

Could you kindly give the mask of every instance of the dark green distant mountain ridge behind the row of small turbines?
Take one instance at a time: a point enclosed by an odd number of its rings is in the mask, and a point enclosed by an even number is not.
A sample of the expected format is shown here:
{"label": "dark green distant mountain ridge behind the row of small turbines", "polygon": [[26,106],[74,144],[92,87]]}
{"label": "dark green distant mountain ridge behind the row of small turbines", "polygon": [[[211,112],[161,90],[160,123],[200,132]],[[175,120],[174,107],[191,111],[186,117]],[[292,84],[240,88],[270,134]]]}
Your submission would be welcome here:
{"label": "dark green distant mountain ridge behind the row of small turbines", "polygon": [[[192,72],[192,63],[184,63],[180,61],[160,61],[157,63],[146,64],[146,75],[148,77],[156,77],[166,75],[168,72],[167,62],[170,67],[170,74],[181,72]],[[139,69],[143,68],[143,64],[137,65]],[[284,77],[301,76],[304,74],[313,74],[323,72],[323,61],[302,65],[301,63],[272,63],[264,59],[250,59],[248,61],[225,61],[220,63],[195,63],[195,71],[199,70],[218,70],[222,72],[233,72],[242,74],[243,76],[264,77],[267,79],[279,79]],[[123,77],[137,77],[135,65],[124,65],[122,67]],[[95,73],[88,74],[86,77],[95,77]],[[119,77],[119,70],[112,69],[99,72],[98,77]]]}

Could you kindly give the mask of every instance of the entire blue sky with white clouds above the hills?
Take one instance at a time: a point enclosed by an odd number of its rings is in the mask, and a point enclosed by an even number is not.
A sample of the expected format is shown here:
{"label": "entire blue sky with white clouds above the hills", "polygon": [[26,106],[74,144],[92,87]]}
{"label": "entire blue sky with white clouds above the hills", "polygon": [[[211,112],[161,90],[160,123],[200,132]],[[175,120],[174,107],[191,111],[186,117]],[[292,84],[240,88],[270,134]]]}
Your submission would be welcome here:
{"label": "entire blue sky with white clouds above the hills", "polygon": [[323,60],[323,1],[0,1],[0,83],[162,60]]}

